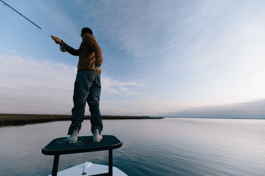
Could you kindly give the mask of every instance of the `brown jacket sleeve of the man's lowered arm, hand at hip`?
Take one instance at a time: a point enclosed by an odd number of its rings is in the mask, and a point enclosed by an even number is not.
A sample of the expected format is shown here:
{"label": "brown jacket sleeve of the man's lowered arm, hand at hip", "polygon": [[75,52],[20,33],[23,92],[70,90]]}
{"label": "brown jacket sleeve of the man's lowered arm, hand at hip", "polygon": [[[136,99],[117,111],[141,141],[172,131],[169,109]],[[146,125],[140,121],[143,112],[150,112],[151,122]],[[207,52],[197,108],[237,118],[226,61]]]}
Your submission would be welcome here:
{"label": "brown jacket sleeve of the man's lowered arm, hand at hip", "polygon": [[101,65],[102,62],[103,62],[102,50],[101,50],[101,48],[99,47],[99,44],[98,44],[96,38],[95,38],[93,35],[86,33],[86,34],[84,35],[84,39],[85,39],[85,42],[87,43],[87,45],[88,45],[88,46],[93,50],[93,52],[95,53],[95,65],[96,65],[96,64]]}

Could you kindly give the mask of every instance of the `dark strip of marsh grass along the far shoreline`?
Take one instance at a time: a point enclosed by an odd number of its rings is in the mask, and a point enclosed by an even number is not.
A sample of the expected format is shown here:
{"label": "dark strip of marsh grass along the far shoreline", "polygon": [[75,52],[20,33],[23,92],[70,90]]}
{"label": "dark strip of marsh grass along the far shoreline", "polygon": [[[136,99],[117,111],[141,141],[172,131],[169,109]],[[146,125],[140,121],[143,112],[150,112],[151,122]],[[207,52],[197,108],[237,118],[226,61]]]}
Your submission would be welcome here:
{"label": "dark strip of marsh grass along the far shoreline", "polygon": [[[52,116],[52,117],[51,117]],[[0,126],[20,126],[34,123],[46,123],[52,121],[67,121],[71,115],[39,115],[39,114],[0,114]],[[54,120],[54,119],[55,120]],[[90,119],[91,116],[84,116]],[[164,117],[149,116],[101,116],[101,119],[161,119]]]}

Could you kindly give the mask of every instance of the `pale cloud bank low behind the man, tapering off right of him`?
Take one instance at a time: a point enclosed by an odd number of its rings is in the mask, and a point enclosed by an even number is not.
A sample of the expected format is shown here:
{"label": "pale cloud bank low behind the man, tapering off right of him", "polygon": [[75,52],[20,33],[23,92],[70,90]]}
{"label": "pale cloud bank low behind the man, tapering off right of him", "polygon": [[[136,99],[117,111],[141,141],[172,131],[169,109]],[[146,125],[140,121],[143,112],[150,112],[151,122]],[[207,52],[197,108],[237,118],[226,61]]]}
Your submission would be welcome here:
{"label": "pale cloud bank low behind the man, tapering off right of him", "polygon": [[[22,58],[14,51],[0,55],[0,113],[70,114],[75,76],[76,67],[62,62]],[[140,94],[133,89],[145,84],[103,76],[101,86],[104,99]]]}

